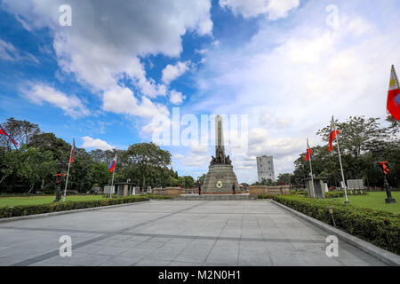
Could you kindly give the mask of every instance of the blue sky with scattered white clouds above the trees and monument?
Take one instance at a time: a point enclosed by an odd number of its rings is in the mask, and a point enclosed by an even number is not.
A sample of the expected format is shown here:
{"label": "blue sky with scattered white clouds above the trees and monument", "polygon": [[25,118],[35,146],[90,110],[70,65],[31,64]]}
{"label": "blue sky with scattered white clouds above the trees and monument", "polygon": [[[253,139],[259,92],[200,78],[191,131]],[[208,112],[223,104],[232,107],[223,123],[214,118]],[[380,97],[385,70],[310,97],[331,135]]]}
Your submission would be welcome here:
{"label": "blue sky with scattered white clouds above the trees and monument", "polygon": [[[292,171],[332,114],[384,118],[400,65],[395,0],[0,3],[1,122],[35,122],[90,151],[151,141],[172,107],[238,115],[246,135],[229,120],[224,135],[246,143],[227,146],[241,182],[256,180],[260,154],[274,155],[276,176]],[[207,171],[212,145],[162,147],[180,175]]]}

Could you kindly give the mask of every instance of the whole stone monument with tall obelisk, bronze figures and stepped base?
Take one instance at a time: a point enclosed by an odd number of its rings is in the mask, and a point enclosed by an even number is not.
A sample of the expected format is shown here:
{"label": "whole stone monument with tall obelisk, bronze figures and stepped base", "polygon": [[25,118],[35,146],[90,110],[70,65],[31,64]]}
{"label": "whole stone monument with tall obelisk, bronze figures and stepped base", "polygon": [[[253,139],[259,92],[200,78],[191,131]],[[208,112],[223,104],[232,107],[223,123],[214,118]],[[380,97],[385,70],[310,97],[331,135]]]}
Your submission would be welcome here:
{"label": "whole stone monument with tall obelisk, bronze figures and stepped base", "polygon": [[208,173],[204,178],[202,193],[231,194],[233,184],[237,193],[239,185],[236,174],[229,156],[225,155],[222,117],[217,115],[215,117],[215,157],[212,156]]}

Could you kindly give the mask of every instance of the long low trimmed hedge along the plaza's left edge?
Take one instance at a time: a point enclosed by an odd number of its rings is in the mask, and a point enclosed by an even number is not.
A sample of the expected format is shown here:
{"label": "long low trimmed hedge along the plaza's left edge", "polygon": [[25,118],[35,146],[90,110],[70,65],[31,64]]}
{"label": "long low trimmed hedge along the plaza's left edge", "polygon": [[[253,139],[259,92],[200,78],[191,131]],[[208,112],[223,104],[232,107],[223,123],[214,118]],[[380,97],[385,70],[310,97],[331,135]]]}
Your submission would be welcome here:
{"label": "long low trimmed hedge along the plaza's left edge", "polygon": [[101,207],[108,205],[132,203],[139,201],[148,201],[148,198],[144,196],[140,197],[123,197],[116,199],[102,199],[96,201],[66,201],[57,202],[51,204],[40,204],[40,205],[20,205],[14,207],[1,207],[0,208],[0,218],[7,217],[19,217],[28,216],[34,214],[68,211],[74,209],[85,209],[93,207]]}

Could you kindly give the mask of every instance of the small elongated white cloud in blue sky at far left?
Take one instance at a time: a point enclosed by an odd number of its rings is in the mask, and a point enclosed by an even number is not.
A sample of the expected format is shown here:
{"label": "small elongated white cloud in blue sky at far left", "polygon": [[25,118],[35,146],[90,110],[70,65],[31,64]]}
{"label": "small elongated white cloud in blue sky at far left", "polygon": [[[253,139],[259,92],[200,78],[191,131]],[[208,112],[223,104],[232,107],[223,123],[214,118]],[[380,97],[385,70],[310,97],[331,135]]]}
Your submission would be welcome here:
{"label": "small elongated white cloud in blue sky at far left", "polygon": [[86,106],[75,95],[68,96],[62,91],[57,91],[44,83],[31,83],[28,87],[22,88],[21,91],[27,99],[30,99],[37,105],[47,102],[53,106],[60,107],[64,110],[65,114],[73,117],[90,114]]}

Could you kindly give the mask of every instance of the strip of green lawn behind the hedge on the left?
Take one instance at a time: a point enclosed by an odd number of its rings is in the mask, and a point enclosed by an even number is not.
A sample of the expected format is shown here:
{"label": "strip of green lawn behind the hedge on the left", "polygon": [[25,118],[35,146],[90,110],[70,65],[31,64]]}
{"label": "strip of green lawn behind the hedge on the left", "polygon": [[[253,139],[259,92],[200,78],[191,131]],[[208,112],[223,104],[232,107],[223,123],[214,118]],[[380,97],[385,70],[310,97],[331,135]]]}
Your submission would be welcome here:
{"label": "strip of green lawn behind the hedge on the left", "polygon": [[[62,201],[63,196],[61,197]],[[94,201],[102,199],[102,195],[67,195],[65,201]],[[0,207],[18,206],[18,205],[37,205],[52,203],[54,195],[27,196],[27,197],[0,197]]]}

